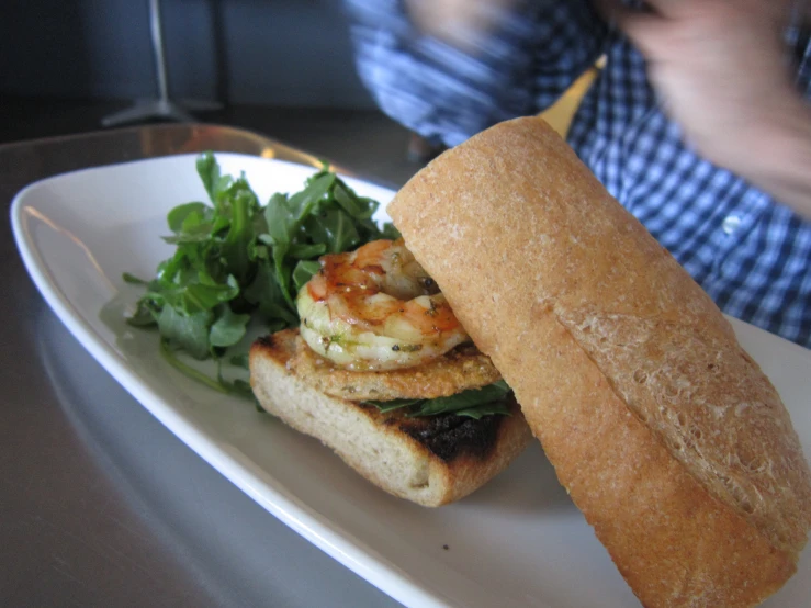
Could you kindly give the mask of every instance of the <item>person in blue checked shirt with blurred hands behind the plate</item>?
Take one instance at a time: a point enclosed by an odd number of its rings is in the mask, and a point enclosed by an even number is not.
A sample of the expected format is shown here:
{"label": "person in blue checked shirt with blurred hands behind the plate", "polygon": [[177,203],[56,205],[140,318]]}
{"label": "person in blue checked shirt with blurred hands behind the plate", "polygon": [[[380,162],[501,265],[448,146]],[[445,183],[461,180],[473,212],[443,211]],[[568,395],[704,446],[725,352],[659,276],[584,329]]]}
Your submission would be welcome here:
{"label": "person in blue checked shirt with blurred hands behind the plate", "polygon": [[725,313],[811,348],[811,41],[790,0],[345,0],[361,79],[430,145],[550,106]]}

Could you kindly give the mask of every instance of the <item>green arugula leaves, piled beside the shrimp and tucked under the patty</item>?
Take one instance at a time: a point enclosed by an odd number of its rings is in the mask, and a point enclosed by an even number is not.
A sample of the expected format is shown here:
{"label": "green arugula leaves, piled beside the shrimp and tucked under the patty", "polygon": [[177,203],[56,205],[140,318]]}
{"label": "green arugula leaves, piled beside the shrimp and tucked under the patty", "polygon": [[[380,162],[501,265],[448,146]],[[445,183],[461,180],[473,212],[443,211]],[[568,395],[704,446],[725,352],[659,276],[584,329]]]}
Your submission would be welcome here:
{"label": "green arugula leaves, piled beside the shrimp and tucked under the patty", "polygon": [[[176,250],[158,264],[153,280],[124,274],[124,281],[146,289],[127,323],[157,327],[161,354],[183,373],[224,393],[250,395],[248,382],[226,380],[222,365],[247,369],[247,356],[232,350],[251,318],[269,333],[297,326],[295,296],[320,268],[320,256],[399,234],[392,224],[379,227],[372,219],[379,203],[359,196],[326,165],[307,178],[303,190],[273,194],[267,204],[259,202],[245,174],[222,174],[212,153],[198,158],[196,169],[210,202],[183,203],[169,212],[171,235],[164,240]],[[214,359],[217,376],[183,361],[181,350],[196,360]],[[484,396],[492,391],[488,386],[474,392]],[[420,402],[419,415],[486,414],[499,407],[497,399],[483,404],[481,398],[464,398],[472,401],[459,407],[442,399]]]}

